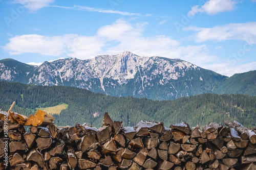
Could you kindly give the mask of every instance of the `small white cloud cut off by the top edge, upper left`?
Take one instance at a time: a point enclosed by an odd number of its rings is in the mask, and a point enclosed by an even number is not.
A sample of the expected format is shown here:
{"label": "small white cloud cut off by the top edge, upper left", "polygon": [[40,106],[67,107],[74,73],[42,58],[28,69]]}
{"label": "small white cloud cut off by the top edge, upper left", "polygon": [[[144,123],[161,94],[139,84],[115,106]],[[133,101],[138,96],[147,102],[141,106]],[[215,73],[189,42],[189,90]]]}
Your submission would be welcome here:
{"label": "small white cloud cut off by the top edge, upper left", "polygon": [[13,2],[22,4],[31,11],[37,11],[38,9],[48,7],[54,0],[14,0]]}

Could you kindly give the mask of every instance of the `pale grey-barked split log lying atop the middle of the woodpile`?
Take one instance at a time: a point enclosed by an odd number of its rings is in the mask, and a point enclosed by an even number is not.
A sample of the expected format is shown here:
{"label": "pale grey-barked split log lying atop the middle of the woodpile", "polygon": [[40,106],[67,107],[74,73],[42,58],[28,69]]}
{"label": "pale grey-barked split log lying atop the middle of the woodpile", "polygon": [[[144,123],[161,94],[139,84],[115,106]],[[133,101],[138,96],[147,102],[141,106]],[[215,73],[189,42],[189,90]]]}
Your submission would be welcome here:
{"label": "pale grey-barked split log lying atop the middle of the woodpile", "polygon": [[141,120],[135,127],[146,127],[157,133],[163,133],[164,126],[162,122],[150,122]]}

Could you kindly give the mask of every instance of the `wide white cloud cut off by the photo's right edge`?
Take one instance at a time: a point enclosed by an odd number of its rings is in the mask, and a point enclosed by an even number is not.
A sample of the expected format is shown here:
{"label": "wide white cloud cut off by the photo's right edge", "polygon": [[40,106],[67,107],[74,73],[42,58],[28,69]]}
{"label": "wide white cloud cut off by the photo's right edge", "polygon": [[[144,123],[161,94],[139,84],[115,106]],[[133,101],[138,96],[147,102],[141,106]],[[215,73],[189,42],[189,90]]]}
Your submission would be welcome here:
{"label": "wide white cloud cut off by the photo's right edge", "polygon": [[256,22],[228,23],[213,28],[188,27],[184,30],[197,32],[191,36],[196,42],[208,40],[217,42],[225,40],[243,40],[248,44],[256,43]]}

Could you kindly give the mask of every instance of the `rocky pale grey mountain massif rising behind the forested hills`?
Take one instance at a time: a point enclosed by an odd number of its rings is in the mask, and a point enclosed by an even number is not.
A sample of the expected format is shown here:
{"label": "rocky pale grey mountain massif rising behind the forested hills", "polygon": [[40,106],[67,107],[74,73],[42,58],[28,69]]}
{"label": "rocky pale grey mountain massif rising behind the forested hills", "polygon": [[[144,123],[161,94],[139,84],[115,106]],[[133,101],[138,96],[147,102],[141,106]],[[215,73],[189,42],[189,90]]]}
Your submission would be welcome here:
{"label": "rocky pale grey mountain massif rising behind the forested hills", "polygon": [[88,60],[59,59],[37,67],[4,59],[0,60],[0,78],[25,84],[79,87],[114,96],[167,100],[212,92],[227,77],[180,59],[140,57],[124,51]]}

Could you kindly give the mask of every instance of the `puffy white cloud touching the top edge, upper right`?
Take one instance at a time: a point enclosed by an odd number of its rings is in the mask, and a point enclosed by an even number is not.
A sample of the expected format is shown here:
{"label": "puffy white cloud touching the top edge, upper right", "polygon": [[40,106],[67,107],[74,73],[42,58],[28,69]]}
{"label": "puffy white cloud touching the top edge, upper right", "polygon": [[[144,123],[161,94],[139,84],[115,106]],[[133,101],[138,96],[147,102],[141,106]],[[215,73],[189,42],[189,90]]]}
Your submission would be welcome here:
{"label": "puffy white cloud touching the top edge, upper right", "polygon": [[194,16],[196,13],[207,13],[215,15],[220,12],[229,12],[236,8],[237,1],[232,0],[209,0],[202,7],[196,5],[188,12],[189,16]]}

